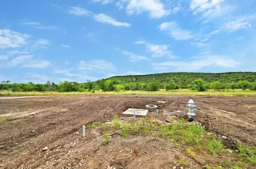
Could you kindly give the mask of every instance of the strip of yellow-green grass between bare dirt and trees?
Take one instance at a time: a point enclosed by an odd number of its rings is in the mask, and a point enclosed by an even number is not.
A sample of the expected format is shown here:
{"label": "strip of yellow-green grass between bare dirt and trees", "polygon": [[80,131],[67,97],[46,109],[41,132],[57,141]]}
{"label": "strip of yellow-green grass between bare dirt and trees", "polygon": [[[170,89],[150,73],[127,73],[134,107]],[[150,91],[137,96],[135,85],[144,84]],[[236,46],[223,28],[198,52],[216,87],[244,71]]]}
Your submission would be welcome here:
{"label": "strip of yellow-green grass between bare dirt and trees", "polygon": [[174,96],[245,96],[245,97],[256,97],[256,91],[254,90],[226,90],[226,91],[215,91],[209,90],[207,92],[198,92],[189,89],[178,89],[165,91],[160,89],[156,92],[151,91],[120,91],[120,92],[102,92],[95,91],[92,92],[11,92],[1,91],[0,96],[44,96],[44,95],[174,95]]}

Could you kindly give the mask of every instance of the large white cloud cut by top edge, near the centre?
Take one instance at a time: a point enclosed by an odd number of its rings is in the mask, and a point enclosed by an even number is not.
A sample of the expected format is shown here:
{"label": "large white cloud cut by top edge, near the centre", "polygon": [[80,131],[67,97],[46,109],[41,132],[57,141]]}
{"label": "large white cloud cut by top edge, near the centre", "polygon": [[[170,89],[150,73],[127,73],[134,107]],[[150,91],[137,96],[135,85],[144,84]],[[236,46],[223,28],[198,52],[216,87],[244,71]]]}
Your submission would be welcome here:
{"label": "large white cloud cut by top edge, near the centre", "polygon": [[125,3],[128,3],[126,13],[130,15],[147,11],[151,18],[160,18],[171,13],[171,11],[165,9],[164,4],[160,0],[119,0],[116,6],[119,9],[124,8]]}

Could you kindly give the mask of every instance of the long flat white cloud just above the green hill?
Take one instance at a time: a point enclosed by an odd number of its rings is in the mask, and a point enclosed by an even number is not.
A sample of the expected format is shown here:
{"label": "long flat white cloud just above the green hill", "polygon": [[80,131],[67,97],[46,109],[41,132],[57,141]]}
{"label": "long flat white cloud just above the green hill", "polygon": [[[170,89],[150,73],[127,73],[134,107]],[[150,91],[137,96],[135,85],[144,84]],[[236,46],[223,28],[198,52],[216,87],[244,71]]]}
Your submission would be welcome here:
{"label": "long flat white cloud just above the green hill", "polygon": [[189,60],[187,62],[177,61],[177,62],[162,62],[153,63],[153,65],[158,67],[175,67],[179,71],[193,71],[200,70],[204,67],[226,67],[234,68],[240,63],[229,56],[222,55],[208,55],[204,57],[196,57],[194,60]]}

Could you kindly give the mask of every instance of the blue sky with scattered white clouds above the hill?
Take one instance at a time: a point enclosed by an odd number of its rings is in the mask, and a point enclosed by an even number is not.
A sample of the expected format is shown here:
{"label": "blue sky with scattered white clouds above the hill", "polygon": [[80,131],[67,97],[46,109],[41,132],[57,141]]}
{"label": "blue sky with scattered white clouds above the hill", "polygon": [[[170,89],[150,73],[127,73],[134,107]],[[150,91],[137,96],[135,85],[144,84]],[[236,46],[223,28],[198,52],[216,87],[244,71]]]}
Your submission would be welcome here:
{"label": "blue sky with scattered white clouds above the hill", "polygon": [[0,80],[256,71],[255,0],[1,0]]}

